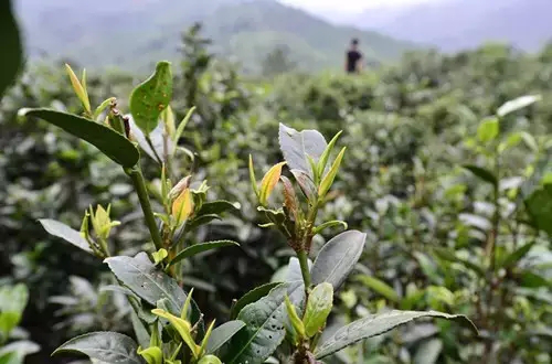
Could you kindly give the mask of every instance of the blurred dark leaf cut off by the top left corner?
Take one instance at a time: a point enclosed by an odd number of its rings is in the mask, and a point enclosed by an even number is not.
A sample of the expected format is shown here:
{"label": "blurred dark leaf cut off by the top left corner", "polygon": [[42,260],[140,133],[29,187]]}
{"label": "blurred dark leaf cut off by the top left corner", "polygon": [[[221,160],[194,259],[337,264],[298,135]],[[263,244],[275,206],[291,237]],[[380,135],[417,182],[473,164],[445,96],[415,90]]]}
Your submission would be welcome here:
{"label": "blurred dark leaf cut off by the top left corner", "polygon": [[12,12],[13,1],[0,1],[0,34],[2,56],[0,57],[0,100],[6,89],[15,81],[23,63],[23,45],[18,22]]}

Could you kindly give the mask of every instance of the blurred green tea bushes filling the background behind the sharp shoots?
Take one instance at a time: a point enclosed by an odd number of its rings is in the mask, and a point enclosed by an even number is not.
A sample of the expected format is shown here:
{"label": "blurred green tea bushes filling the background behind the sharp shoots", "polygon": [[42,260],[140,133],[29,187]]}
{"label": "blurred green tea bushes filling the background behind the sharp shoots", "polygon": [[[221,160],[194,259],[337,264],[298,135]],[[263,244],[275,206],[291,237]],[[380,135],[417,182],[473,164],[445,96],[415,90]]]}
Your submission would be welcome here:
{"label": "blurred green tea bushes filling the background behind the sharp shoots", "polygon": [[[183,39],[171,105],[177,120],[198,107],[180,140],[193,159],[182,161],[180,174],[208,179],[211,200],[242,205],[192,237],[230,238],[241,247],[182,267],[209,318],[227,318],[233,299],[278,274],[291,255],[282,236],[257,226],[247,172],[250,153],[259,171],[279,160],[275,130],[285,120],[326,137],[343,130],[340,142],[348,146],[321,214],[369,237],[362,264],[335,304],[336,325],[401,308],[464,313],[481,330],[476,338],[446,322],[417,323],[332,363],[550,363],[552,251],[546,233],[529,224],[522,191],[531,194],[535,178],[548,172],[552,46],[537,55],[498,45],[411,53],[359,77],[290,73],[268,82],[243,78],[210,56],[199,31]],[[136,79],[106,73],[91,74],[87,83],[98,104],[110,96],[125,100]],[[484,142],[480,121],[527,94],[545,101],[505,116],[500,136]],[[89,204],[110,203],[112,216],[127,227],[112,233],[117,253],[138,251],[147,236],[119,169],[94,147],[17,117],[19,108],[39,105],[82,111],[61,64],[29,66],[0,109],[0,276],[2,285],[29,287],[21,325],[42,346],[30,363],[53,362],[52,350],[75,333],[129,330],[128,320],[118,320],[128,313],[120,299],[105,289],[95,293],[112,283],[105,267],[47,236],[36,220],[76,227]],[[464,164],[491,171],[496,185]],[[145,173],[157,175],[153,160]]]}

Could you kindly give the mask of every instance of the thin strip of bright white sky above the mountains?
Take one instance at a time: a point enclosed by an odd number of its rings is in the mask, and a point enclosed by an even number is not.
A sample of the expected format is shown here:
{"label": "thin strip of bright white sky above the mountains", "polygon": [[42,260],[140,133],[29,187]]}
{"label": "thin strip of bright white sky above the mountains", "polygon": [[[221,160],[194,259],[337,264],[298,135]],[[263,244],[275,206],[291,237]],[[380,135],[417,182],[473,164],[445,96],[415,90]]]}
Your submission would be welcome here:
{"label": "thin strip of bright white sky above the mountains", "polygon": [[307,10],[336,10],[339,12],[357,12],[374,7],[400,7],[412,3],[442,0],[280,0],[284,3]]}

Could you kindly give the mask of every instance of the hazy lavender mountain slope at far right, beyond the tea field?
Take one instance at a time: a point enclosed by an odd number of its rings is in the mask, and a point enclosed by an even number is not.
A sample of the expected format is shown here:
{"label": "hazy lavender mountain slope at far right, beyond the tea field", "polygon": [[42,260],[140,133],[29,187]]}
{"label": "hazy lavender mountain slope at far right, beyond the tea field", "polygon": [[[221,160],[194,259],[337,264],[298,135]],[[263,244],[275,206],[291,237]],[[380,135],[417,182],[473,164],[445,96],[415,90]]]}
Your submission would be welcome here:
{"label": "hazy lavender mountain slope at far right, beyond the tea field", "polygon": [[442,0],[371,9],[347,23],[444,51],[489,41],[535,51],[552,40],[551,15],[552,0]]}

